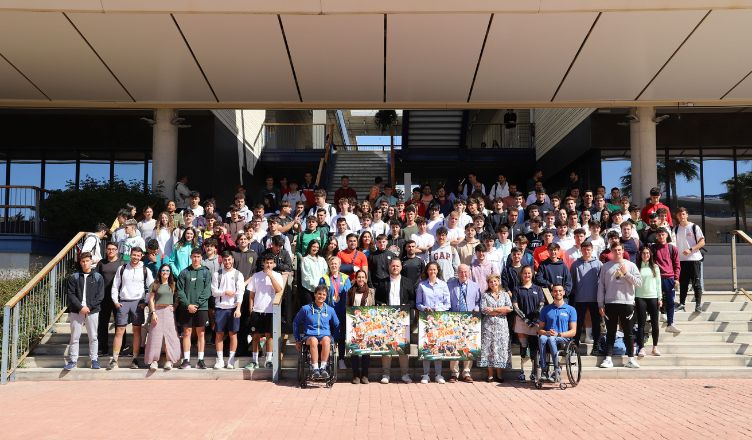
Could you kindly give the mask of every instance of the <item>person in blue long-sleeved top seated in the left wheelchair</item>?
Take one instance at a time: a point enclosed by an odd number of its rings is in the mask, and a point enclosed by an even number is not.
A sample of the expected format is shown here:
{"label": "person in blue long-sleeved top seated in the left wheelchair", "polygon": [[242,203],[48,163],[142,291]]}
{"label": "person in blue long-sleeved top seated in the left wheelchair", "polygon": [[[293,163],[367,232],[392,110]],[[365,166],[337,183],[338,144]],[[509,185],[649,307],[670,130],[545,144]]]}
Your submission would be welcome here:
{"label": "person in blue long-sleeved top seated in the left wheelchair", "polygon": [[332,332],[336,332],[340,325],[334,308],[326,304],[327,294],[328,288],[325,285],[316,287],[313,302],[301,307],[293,321],[295,348],[302,353],[303,344],[306,344],[311,354],[312,379],[329,379],[326,360],[329,359],[332,346]]}

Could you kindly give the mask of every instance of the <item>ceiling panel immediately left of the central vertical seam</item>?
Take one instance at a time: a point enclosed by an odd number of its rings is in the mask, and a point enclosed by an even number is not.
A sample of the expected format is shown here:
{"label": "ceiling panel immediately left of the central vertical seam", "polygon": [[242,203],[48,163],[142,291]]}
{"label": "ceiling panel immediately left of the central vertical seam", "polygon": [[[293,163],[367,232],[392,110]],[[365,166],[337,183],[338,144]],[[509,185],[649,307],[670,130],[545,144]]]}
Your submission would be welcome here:
{"label": "ceiling panel immediately left of the central vertical seam", "polygon": [[383,15],[283,15],[303,101],[381,102]]}

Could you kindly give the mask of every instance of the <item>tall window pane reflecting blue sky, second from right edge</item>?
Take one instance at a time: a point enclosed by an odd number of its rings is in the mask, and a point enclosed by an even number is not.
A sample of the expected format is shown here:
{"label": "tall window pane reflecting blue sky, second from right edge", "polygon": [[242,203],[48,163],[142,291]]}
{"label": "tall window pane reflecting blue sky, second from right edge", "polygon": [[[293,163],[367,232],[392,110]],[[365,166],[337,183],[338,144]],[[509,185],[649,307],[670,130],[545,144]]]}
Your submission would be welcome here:
{"label": "tall window pane reflecting blue sky, second from right edge", "polygon": [[[703,159],[703,185],[705,189],[705,240],[708,243],[728,243],[729,232],[736,229],[737,206],[733,192],[734,160],[722,158]],[[695,221],[695,220],[692,220]]]}

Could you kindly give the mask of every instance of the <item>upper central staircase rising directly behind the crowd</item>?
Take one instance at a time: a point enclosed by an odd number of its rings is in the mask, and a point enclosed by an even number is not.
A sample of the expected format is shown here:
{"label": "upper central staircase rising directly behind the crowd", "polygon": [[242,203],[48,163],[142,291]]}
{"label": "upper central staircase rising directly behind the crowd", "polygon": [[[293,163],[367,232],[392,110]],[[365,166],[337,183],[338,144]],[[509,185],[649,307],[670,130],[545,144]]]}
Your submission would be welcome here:
{"label": "upper central staircase rising directly behind the crowd", "polygon": [[363,200],[368,196],[376,177],[389,179],[388,151],[338,150],[336,156],[327,192],[330,202],[334,198],[334,192],[340,186],[342,176],[350,178],[350,186],[358,194],[358,200]]}

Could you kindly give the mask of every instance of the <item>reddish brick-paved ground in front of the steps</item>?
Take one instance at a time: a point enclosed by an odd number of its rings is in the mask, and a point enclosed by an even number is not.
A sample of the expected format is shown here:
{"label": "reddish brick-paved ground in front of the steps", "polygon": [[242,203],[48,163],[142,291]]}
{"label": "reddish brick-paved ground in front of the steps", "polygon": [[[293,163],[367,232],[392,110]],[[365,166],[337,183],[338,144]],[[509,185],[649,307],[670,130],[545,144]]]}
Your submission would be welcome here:
{"label": "reddish brick-paved ground in front of the steps", "polygon": [[[0,388],[0,397],[4,439],[752,438],[752,380],[585,380],[565,391],[481,382],[306,390],[251,381],[24,382]],[[536,415],[545,411],[556,414]]]}

